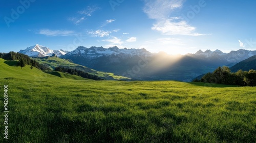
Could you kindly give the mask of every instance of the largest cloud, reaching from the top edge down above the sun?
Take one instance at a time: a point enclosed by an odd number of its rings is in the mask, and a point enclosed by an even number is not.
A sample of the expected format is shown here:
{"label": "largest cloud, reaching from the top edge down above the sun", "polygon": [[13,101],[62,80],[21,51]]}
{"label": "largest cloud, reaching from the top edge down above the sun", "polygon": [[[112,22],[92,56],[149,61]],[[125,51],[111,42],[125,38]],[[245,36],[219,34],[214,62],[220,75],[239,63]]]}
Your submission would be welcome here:
{"label": "largest cloud, reaching from the top edge down above the sun", "polygon": [[175,10],[182,8],[184,0],[144,0],[143,11],[149,18],[157,20],[152,30],[164,35],[201,36],[206,34],[195,33],[196,28],[188,25],[181,17],[170,17]]}

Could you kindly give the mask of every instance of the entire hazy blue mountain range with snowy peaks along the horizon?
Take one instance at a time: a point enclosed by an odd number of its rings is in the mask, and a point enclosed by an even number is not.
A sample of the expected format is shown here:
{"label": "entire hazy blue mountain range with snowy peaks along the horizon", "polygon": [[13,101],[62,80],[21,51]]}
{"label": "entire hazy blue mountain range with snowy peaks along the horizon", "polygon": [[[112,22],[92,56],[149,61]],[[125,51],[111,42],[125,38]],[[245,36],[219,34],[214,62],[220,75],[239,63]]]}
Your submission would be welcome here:
{"label": "entire hazy blue mountain range with snowy peaks along the horizon", "polygon": [[191,81],[199,75],[213,71],[218,66],[231,67],[256,55],[256,51],[241,49],[230,53],[223,53],[220,50],[205,52],[199,50],[195,54],[174,56],[164,52],[151,53],[145,49],[119,49],[117,46],[108,49],[102,46],[90,48],[79,46],[67,52],[50,50],[38,44],[19,53],[30,57],[45,57],[54,53],[76,64],[137,80],[179,81]]}

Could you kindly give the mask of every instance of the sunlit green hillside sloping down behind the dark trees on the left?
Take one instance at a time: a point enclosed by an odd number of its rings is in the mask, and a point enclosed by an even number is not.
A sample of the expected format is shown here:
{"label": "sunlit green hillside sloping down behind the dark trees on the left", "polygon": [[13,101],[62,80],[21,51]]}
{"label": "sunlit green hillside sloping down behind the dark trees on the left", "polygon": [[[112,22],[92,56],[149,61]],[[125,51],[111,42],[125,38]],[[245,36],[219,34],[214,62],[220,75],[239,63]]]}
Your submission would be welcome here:
{"label": "sunlit green hillside sloping down behind the dark trees on the left", "polygon": [[66,59],[61,59],[58,57],[45,57],[45,58],[33,58],[40,64],[48,65],[48,67],[52,70],[55,69],[57,66],[69,67],[69,68],[76,68],[78,70],[85,71],[86,73],[90,73],[92,75],[98,76],[105,80],[131,80],[131,78],[126,78],[122,76],[115,75],[113,73],[105,73],[102,71],[97,71],[86,66],[78,65],[75,63],[70,62]]}

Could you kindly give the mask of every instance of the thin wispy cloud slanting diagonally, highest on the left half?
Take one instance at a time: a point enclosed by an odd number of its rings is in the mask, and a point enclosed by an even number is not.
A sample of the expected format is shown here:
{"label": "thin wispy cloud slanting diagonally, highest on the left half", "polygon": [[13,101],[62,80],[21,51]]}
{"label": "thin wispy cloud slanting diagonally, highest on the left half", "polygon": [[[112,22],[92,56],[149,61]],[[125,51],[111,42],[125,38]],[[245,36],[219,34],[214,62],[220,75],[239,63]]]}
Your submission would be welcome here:
{"label": "thin wispy cloud slanting diagonally, highest on the left half", "polygon": [[72,21],[75,25],[79,25],[83,20],[86,20],[87,16],[92,16],[91,14],[95,12],[96,10],[99,10],[98,7],[90,7],[88,6],[86,9],[83,9],[81,11],[78,11],[76,16],[69,18],[70,21]]}

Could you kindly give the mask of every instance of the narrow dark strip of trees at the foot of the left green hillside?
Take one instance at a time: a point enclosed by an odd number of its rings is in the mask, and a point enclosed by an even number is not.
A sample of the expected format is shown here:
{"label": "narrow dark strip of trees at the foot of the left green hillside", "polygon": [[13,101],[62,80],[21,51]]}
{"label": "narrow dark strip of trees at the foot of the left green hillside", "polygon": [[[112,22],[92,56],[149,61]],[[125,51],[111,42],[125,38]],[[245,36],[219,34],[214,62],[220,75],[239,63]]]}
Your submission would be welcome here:
{"label": "narrow dark strip of trees at the foot of the left green hillside", "polygon": [[62,73],[69,73],[71,75],[80,76],[80,77],[86,78],[86,79],[103,80],[98,76],[88,74],[82,70],[77,70],[77,69],[72,69],[72,68],[67,68],[67,67],[62,67],[62,66],[55,67],[55,71],[60,71]]}

